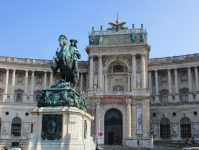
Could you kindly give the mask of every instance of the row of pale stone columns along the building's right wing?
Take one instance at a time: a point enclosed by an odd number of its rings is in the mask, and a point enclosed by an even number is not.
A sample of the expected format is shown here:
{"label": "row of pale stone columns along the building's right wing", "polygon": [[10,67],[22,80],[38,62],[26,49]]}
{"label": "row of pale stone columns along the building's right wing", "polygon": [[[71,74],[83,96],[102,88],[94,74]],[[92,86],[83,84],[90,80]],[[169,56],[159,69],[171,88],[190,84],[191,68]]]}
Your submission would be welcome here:
{"label": "row of pale stone columns along the building's right wing", "polygon": [[[195,66],[195,92],[196,92],[196,100],[199,100],[199,85],[198,85],[198,66]],[[175,95],[175,102],[179,102],[179,83],[178,83],[178,69],[180,68],[174,68],[174,77],[175,77],[175,89],[172,90],[172,82],[171,82],[171,70],[172,69],[167,69],[168,71],[168,91],[169,91],[169,96],[168,96],[168,101],[172,102],[173,98],[172,95]],[[152,70],[149,70],[149,92],[151,95],[155,93],[155,102],[159,103],[159,83],[158,83],[158,70],[155,71],[155,91],[153,92],[152,89]],[[189,88],[189,101],[193,101],[193,83],[192,83],[192,73],[191,73],[191,67],[187,67],[187,72],[188,72],[188,88]],[[173,93],[173,91],[175,91]]]}

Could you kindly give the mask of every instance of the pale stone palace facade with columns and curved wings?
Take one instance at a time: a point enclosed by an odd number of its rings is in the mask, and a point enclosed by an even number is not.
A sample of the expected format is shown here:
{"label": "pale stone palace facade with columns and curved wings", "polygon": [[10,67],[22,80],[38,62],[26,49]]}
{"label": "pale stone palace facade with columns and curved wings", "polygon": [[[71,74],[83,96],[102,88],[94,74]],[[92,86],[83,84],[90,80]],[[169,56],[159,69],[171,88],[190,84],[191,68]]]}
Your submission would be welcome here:
{"label": "pale stone palace facade with columns and curved wings", "polygon": [[[95,117],[91,135],[101,144],[150,147],[154,141],[199,140],[199,54],[149,58],[143,25],[94,31],[88,61],[79,61],[76,91]],[[30,111],[42,89],[57,84],[51,60],[0,57],[1,145],[22,145],[33,131]]]}

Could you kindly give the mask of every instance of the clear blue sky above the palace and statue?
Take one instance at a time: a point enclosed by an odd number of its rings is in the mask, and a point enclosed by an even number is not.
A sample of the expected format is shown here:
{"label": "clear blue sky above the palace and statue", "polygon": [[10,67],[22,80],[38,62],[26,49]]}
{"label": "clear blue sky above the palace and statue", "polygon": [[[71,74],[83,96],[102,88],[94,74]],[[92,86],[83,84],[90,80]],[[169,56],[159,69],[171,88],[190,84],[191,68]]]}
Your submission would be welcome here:
{"label": "clear blue sky above the palace and statue", "polygon": [[144,24],[150,58],[199,52],[199,0],[0,0],[0,56],[50,60],[65,34],[87,60],[92,26],[109,28],[117,12],[128,28]]}

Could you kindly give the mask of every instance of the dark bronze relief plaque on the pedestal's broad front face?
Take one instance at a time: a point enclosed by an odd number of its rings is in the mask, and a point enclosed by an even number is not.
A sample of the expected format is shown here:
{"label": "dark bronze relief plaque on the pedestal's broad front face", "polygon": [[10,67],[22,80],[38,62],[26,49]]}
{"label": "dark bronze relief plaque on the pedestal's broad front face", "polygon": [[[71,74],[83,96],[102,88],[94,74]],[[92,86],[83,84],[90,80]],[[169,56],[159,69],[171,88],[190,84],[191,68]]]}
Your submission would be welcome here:
{"label": "dark bronze relief plaque on the pedestal's broad front face", "polygon": [[43,139],[55,140],[62,136],[62,114],[48,114],[42,116],[42,131]]}

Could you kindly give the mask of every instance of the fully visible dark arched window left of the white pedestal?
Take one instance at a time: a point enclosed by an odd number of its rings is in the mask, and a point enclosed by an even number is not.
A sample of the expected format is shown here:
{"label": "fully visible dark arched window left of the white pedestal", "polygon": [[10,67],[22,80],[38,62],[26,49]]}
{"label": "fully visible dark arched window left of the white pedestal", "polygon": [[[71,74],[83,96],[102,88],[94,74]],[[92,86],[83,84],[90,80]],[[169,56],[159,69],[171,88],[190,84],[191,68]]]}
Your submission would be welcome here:
{"label": "fully visible dark arched window left of the white pedestal", "polygon": [[14,136],[21,136],[21,119],[18,117],[12,120],[11,135],[12,134]]}

